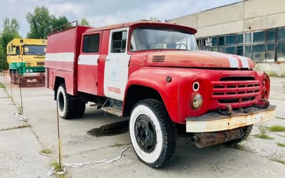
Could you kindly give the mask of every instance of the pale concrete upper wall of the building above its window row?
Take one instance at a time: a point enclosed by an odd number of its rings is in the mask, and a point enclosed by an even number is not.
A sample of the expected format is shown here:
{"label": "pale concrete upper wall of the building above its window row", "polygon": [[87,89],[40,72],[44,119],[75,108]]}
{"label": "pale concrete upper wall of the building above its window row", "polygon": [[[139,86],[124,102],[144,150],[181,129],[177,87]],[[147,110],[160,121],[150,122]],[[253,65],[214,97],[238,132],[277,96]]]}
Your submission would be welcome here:
{"label": "pale concrete upper wall of the building above its window row", "polygon": [[285,26],[285,1],[240,1],[169,21],[197,28],[197,38],[280,27]]}

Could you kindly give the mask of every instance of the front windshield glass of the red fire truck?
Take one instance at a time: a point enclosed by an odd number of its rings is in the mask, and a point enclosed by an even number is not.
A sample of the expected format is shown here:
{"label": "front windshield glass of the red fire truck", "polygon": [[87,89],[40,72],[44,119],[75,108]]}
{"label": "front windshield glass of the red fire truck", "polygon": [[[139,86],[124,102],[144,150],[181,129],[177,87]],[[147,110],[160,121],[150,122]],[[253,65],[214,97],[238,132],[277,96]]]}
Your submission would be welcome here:
{"label": "front windshield glass of the red fire truck", "polygon": [[130,38],[130,51],[152,49],[196,50],[194,35],[170,28],[136,28]]}

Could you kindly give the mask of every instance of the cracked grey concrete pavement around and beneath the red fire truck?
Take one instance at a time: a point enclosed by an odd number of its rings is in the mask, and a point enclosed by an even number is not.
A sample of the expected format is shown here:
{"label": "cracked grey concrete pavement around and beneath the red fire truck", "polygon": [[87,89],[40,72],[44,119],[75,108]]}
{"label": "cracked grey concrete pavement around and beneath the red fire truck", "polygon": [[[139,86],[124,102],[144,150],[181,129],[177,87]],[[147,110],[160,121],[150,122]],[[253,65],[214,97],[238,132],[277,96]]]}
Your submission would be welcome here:
{"label": "cracked grey concrete pavement around and beneath the red fire truck", "polygon": [[[278,105],[277,116],[285,116],[283,88],[285,78],[271,78],[271,103]],[[58,155],[56,103],[53,91],[46,88],[22,88],[24,115],[30,127],[0,132],[0,177],[46,177],[53,159],[39,154],[43,148]],[[7,91],[10,91],[7,88]],[[14,100],[19,103],[19,89],[14,90]],[[15,106],[11,98],[0,89],[0,128],[18,127],[25,122],[15,120]],[[2,117],[4,116],[4,117]],[[115,158],[130,144],[128,133],[109,137],[95,137],[87,132],[102,125],[122,119],[89,105],[81,119],[60,120],[63,162],[90,162]],[[3,126],[2,126],[3,123]],[[284,119],[265,122],[264,125],[284,125]],[[68,169],[67,177],[284,177],[285,132],[269,132],[274,140],[262,140],[256,125],[249,140],[242,142],[241,149],[217,145],[196,148],[187,137],[177,140],[177,153],[171,164],[164,169],[151,169],[142,164],[133,149],[126,150],[123,157],[110,164],[89,164]],[[128,127],[128,125],[126,125]],[[0,130],[1,130],[0,129]],[[5,145],[5,146],[2,146]],[[24,148],[24,149],[22,149]],[[11,161],[9,161],[11,157]],[[11,167],[11,168],[9,168]],[[13,168],[13,169],[12,169]],[[33,171],[36,170],[36,171]],[[5,172],[5,174],[3,174]],[[19,176],[21,175],[21,176]]]}

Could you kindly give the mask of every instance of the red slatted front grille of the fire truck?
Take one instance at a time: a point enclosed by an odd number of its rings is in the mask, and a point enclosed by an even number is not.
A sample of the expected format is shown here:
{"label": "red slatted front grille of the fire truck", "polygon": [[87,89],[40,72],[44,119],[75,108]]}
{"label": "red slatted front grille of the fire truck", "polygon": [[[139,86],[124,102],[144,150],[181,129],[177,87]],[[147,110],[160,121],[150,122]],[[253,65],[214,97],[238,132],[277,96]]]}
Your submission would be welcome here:
{"label": "red slatted front grille of the fire truck", "polygon": [[212,82],[212,99],[219,103],[250,103],[259,95],[259,80],[227,77]]}

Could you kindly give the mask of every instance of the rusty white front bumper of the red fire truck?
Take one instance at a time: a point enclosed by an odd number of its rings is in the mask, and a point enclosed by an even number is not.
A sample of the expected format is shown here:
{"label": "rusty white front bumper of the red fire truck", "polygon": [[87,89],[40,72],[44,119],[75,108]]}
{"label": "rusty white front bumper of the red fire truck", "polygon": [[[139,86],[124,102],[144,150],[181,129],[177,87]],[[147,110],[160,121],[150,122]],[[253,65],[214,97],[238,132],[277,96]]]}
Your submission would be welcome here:
{"label": "rusty white front bumper of the red fire truck", "polygon": [[186,117],[186,132],[217,132],[264,122],[274,119],[275,108],[276,105],[269,105],[266,109],[251,107],[243,112],[236,110],[232,115],[209,112],[199,117]]}

